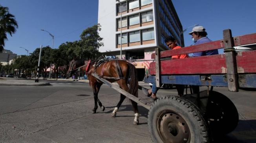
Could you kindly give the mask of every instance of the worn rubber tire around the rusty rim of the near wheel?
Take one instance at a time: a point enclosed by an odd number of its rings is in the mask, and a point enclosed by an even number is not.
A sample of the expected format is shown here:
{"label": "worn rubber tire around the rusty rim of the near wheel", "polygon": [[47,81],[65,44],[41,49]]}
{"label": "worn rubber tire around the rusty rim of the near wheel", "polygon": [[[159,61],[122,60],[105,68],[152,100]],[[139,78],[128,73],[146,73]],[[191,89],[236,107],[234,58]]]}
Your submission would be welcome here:
{"label": "worn rubber tire around the rusty rim of the near wheel", "polygon": [[178,113],[186,121],[190,130],[190,143],[210,143],[210,130],[200,110],[189,100],[177,96],[157,99],[148,112],[148,130],[155,143],[163,143],[157,132],[157,115],[164,110]]}

